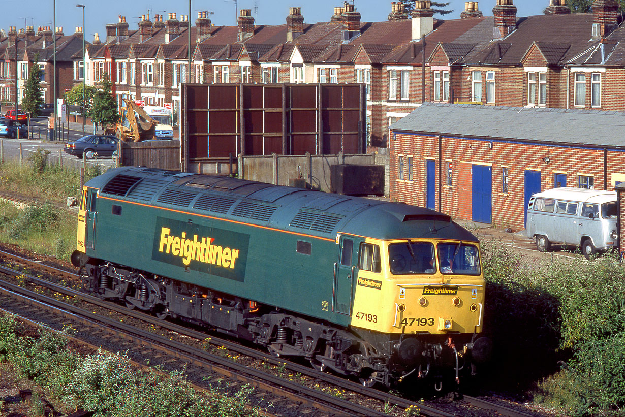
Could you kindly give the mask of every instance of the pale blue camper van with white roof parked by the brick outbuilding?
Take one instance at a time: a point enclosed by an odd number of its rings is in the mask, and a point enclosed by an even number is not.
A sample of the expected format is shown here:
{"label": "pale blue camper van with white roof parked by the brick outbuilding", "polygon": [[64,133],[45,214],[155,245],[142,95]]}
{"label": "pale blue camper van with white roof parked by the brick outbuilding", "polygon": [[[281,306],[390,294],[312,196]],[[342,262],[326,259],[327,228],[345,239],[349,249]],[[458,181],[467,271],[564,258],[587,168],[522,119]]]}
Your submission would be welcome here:
{"label": "pale blue camper van with white roof parked by the brick outbuilding", "polygon": [[615,191],[553,188],[536,193],[527,204],[527,237],[544,252],[552,243],[580,246],[586,258],[617,248]]}

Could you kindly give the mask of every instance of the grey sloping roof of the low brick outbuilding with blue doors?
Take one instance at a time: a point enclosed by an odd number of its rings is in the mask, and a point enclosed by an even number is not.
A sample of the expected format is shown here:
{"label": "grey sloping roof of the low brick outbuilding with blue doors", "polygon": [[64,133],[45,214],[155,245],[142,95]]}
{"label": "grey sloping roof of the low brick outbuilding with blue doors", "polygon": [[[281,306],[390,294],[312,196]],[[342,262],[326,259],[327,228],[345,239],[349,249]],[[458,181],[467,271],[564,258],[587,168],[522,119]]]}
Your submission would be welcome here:
{"label": "grey sloping roof of the low brick outbuilding with blue doors", "polygon": [[[539,126],[539,128],[537,128]],[[625,148],[625,112],[423,103],[394,131]]]}

